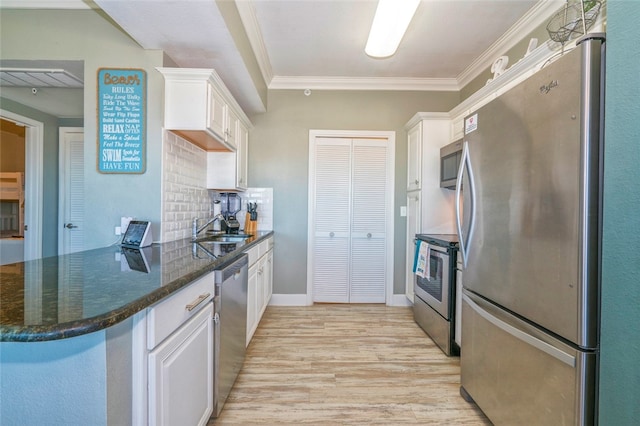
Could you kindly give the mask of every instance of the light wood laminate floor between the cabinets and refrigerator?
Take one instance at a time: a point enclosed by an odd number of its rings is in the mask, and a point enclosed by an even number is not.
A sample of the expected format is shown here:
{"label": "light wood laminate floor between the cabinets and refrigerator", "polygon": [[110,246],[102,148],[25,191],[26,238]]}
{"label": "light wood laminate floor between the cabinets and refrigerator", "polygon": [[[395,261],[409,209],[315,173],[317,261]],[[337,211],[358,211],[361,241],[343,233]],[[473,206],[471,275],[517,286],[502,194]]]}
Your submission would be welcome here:
{"label": "light wood laminate floor between the cabinets and refrigerator", "polygon": [[406,307],[269,306],[217,420],[229,424],[490,425]]}

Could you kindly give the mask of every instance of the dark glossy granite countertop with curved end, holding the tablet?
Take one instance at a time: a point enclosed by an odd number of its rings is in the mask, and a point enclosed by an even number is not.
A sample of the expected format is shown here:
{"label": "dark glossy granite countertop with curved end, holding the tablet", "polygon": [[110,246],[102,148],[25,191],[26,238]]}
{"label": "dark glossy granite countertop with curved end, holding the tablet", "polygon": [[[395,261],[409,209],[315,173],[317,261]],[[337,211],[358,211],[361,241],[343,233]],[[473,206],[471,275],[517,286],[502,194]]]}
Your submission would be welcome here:
{"label": "dark glossy granite countertop with curved end, holding the tablet", "polygon": [[64,339],[117,324],[231,262],[273,231],[207,252],[190,239],[0,266],[0,341]]}

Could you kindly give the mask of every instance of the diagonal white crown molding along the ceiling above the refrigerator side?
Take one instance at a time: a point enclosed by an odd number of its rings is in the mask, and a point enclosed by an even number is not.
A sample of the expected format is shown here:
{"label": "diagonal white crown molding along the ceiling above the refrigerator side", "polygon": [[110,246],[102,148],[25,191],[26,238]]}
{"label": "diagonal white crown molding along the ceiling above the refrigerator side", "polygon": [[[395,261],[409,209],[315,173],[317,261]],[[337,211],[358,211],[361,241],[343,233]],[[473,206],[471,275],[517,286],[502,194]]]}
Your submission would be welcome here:
{"label": "diagonal white crown molding along the ceiling above the refrigerator side", "polygon": [[507,32],[489,46],[482,55],[458,74],[457,81],[459,86],[461,88],[466,86],[484,70],[491,67],[491,64],[498,56],[504,54],[504,52],[507,52],[521,41],[523,34],[529,34],[545,23],[564,4],[564,0],[540,0],[536,3],[518,22],[513,24]]}

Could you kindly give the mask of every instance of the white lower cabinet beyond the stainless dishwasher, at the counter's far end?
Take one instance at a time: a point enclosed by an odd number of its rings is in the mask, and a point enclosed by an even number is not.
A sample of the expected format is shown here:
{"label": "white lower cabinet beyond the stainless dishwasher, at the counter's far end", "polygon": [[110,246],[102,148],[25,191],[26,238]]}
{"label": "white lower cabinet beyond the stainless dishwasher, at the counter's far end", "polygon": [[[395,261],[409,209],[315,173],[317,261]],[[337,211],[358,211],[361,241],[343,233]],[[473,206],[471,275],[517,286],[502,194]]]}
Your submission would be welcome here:
{"label": "white lower cabinet beyond the stainless dishwasher, at the counter's far end", "polygon": [[247,346],[273,294],[273,237],[247,250],[249,286],[247,289]]}

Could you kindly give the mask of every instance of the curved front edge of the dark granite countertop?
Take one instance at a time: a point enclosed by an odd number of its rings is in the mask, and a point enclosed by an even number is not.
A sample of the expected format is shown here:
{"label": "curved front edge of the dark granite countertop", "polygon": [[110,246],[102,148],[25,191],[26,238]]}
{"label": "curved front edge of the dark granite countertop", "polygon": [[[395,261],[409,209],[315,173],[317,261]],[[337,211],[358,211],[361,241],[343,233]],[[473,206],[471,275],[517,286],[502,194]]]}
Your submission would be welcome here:
{"label": "curved front edge of the dark granite countertop", "polygon": [[225,256],[220,261],[212,260],[201,269],[177,278],[167,285],[164,285],[144,297],[134,300],[118,309],[110,311],[104,315],[86,318],[80,321],[51,324],[47,326],[0,326],[0,342],[44,342],[49,340],[61,340],[69,337],[81,336],[114,326],[138,312],[148,308],[165,297],[175,293],[181,288],[191,284],[198,278],[213,272],[216,269],[232,262],[242,256],[248,249],[259,244],[266,238],[273,235],[273,231],[268,231],[260,235],[255,240],[242,246],[239,250]]}

